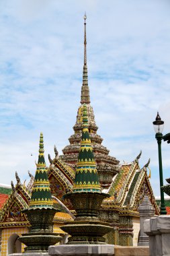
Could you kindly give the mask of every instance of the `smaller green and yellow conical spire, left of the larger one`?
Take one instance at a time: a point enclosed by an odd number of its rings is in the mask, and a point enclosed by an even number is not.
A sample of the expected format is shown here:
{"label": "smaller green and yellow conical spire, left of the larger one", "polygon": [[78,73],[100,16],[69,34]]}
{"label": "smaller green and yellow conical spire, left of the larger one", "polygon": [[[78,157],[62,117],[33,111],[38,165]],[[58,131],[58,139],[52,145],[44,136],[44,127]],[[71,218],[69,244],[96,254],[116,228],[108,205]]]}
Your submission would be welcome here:
{"label": "smaller green and yellow conical spire, left of the larger one", "polygon": [[46,162],[44,159],[44,141],[42,133],[40,133],[40,148],[38,164],[36,164],[36,166],[36,176],[33,183],[32,197],[29,206],[30,208],[38,209],[51,208],[53,207],[53,202],[46,170]]}

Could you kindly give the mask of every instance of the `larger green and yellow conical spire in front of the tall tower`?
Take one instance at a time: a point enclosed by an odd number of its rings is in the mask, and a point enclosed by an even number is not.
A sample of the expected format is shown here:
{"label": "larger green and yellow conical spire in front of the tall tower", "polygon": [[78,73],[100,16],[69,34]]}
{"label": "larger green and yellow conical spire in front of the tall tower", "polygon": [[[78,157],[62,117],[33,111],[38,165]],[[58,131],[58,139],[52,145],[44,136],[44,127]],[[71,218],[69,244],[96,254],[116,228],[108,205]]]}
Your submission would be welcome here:
{"label": "larger green and yellow conical spire in front of the tall tower", "polygon": [[81,149],[77,162],[74,192],[101,192],[99,177],[95,164],[91,139],[89,137],[87,106],[83,105],[83,132],[81,137]]}

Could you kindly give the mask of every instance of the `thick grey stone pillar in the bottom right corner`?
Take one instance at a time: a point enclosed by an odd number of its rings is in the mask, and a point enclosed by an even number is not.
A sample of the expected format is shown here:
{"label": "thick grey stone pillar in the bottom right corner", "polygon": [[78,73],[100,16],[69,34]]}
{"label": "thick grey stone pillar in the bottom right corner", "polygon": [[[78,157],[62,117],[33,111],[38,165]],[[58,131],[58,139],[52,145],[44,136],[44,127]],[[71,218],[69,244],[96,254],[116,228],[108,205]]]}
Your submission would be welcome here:
{"label": "thick grey stone pillar in the bottom right corner", "polygon": [[144,221],[144,232],[149,236],[151,256],[170,256],[170,216],[161,215]]}

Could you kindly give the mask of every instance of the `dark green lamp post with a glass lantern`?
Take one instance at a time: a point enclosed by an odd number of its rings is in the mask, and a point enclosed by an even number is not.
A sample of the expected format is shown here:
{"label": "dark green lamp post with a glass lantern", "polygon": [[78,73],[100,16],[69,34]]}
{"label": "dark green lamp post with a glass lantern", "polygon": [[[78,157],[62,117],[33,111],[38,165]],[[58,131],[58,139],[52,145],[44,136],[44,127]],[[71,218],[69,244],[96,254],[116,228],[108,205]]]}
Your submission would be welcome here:
{"label": "dark green lamp post with a glass lantern", "polygon": [[157,139],[158,143],[158,154],[159,154],[159,180],[160,180],[160,192],[161,192],[161,212],[160,214],[167,214],[165,209],[165,200],[164,200],[164,193],[163,193],[163,166],[162,166],[162,154],[161,154],[161,141],[163,139],[163,125],[164,121],[161,120],[159,113],[157,113],[157,117],[155,121],[153,121],[153,126],[155,129],[155,138]]}

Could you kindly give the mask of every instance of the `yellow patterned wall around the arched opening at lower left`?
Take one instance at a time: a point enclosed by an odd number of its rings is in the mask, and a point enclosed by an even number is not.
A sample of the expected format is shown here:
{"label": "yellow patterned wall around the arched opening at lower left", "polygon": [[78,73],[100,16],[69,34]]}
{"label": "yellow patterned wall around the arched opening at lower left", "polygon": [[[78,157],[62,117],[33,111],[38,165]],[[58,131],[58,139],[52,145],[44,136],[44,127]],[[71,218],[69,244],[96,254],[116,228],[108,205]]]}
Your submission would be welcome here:
{"label": "yellow patterned wall around the arched opening at lower left", "polygon": [[[9,238],[16,234],[17,236],[21,236],[24,233],[28,232],[28,228],[3,228],[2,230],[2,238],[1,238],[1,256],[8,255],[8,241]],[[9,245],[12,246],[12,245]],[[22,252],[24,252],[25,245],[22,244]]]}

